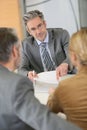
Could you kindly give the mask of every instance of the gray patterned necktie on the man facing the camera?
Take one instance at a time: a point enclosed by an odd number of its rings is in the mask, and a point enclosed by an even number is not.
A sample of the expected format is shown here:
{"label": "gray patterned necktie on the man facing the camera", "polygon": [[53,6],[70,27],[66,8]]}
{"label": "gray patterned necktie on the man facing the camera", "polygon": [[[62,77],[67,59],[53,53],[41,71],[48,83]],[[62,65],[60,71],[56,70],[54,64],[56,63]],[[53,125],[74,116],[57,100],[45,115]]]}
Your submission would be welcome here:
{"label": "gray patterned necktie on the man facing the camera", "polygon": [[41,53],[41,59],[44,66],[45,71],[51,71],[55,69],[55,63],[51,59],[47,49],[46,49],[46,43],[40,44],[40,53]]}

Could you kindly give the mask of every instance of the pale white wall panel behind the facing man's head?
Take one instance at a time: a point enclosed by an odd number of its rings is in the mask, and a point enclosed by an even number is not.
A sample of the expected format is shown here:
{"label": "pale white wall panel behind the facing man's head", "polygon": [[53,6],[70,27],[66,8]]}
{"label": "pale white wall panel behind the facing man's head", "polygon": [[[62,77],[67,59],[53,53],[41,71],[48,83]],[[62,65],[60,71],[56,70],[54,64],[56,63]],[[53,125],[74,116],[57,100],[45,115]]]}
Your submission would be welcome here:
{"label": "pale white wall panel behind the facing man's head", "polygon": [[38,9],[44,13],[48,28],[64,28],[69,31],[70,35],[80,28],[78,0],[26,0],[26,5],[27,11]]}

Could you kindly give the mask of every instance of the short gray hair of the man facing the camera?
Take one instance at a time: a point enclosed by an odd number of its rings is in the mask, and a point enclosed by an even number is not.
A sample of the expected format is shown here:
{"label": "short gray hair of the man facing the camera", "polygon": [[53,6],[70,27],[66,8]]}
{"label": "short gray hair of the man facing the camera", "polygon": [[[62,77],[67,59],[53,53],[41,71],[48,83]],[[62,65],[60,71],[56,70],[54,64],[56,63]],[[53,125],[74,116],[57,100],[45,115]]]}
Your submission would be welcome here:
{"label": "short gray hair of the man facing the camera", "polygon": [[42,20],[44,20],[44,15],[42,12],[40,12],[39,10],[33,10],[24,14],[23,20],[24,20],[25,25],[27,24],[29,20],[35,17],[40,17]]}

